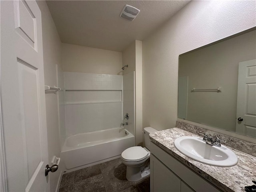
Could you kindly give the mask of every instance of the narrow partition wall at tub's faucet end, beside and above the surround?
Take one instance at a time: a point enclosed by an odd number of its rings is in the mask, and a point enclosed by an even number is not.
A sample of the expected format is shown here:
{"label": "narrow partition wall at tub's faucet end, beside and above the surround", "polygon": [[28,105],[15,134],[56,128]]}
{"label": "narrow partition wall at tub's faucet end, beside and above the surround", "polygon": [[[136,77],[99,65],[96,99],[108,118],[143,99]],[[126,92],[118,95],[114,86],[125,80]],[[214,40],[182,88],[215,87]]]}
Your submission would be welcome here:
{"label": "narrow partition wall at tub's faucet end, beside and above the surround", "polygon": [[[122,52],[123,74],[130,74],[135,71],[135,145],[142,144],[142,41],[135,40]],[[128,105],[127,105],[128,106]],[[124,105],[123,113],[126,114]]]}

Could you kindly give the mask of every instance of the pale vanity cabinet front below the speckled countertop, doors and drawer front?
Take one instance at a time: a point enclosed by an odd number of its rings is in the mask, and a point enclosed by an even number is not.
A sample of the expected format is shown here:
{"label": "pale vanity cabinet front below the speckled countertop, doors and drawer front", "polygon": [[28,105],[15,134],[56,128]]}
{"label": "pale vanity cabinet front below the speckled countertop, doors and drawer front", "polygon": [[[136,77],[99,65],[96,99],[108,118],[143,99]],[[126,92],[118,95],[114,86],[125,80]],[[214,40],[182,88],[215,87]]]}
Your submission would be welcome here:
{"label": "pale vanity cabinet front below the speckled countertop, doors and drawer front", "polygon": [[150,142],[150,192],[220,192],[176,158]]}

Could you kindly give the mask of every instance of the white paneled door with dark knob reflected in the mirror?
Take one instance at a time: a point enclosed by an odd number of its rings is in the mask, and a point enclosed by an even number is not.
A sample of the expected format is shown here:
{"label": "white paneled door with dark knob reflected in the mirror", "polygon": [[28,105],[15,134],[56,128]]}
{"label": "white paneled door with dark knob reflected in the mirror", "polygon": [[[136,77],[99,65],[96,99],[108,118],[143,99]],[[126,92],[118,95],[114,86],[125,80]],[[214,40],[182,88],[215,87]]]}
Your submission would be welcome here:
{"label": "white paneled door with dark knob reflected in the mirror", "polygon": [[256,137],[256,60],[239,63],[236,132]]}

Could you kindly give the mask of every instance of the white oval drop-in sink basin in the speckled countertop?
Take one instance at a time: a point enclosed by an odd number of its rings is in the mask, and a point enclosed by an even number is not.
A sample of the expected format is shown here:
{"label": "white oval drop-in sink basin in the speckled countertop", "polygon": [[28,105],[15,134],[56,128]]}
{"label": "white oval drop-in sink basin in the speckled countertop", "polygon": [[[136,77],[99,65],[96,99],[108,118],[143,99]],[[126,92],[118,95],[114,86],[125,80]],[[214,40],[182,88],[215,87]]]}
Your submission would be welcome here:
{"label": "white oval drop-in sink basin in the speckled countertop", "polygon": [[224,145],[216,147],[206,144],[199,137],[183,136],[176,138],[174,146],[182,154],[204,164],[231,167],[238,163],[236,154],[229,148]]}

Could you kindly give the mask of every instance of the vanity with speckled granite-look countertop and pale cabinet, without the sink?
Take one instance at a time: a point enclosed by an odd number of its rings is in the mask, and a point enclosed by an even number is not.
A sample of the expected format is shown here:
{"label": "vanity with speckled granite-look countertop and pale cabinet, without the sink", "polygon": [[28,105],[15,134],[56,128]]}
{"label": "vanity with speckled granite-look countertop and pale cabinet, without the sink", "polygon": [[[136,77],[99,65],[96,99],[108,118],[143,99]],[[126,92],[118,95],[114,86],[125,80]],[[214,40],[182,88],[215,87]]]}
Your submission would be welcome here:
{"label": "vanity with speckled granite-look countertop and pale cabinet, without the sink", "polygon": [[231,149],[238,164],[218,167],[188,158],[174,146],[182,136],[197,136],[179,128],[150,134],[151,192],[232,192],[244,191],[256,178],[256,158]]}

